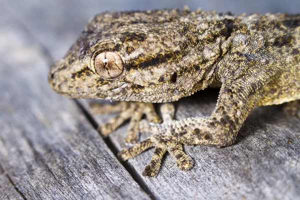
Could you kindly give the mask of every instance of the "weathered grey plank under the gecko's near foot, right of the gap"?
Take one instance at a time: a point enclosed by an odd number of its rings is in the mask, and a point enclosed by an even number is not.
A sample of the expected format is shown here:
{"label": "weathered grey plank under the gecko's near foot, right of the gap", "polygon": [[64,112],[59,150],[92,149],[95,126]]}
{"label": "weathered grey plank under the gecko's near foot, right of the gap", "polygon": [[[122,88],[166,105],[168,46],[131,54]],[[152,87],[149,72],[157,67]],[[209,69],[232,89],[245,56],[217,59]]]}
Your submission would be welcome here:
{"label": "weathered grey plank under the gecko's near foot, right of the gap", "polygon": [[[180,99],[175,118],[209,116],[217,93],[207,89]],[[95,118],[101,124],[112,116]],[[109,136],[118,150],[126,147],[126,128],[124,124]],[[280,105],[259,107],[246,119],[234,145],[184,146],[195,162],[190,171],[177,169],[167,154],[156,177],[140,179],[160,199],[294,199],[300,196],[299,135],[299,119],[285,115]],[[127,163],[140,174],[152,153],[150,149]]]}

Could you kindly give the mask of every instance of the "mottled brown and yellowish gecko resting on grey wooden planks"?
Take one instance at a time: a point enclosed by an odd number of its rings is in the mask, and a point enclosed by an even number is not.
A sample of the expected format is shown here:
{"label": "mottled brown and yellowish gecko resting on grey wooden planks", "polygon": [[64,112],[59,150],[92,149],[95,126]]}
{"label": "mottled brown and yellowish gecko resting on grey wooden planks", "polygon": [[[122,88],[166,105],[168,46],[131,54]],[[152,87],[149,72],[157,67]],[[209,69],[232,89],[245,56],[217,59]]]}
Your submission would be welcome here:
{"label": "mottled brown and yellowish gecko resting on grey wooden planks", "polygon": [[[118,100],[90,106],[95,112],[119,112],[97,130],[106,136],[129,119],[119,151],[127,160],[154,147],[143,176],[155,176],[164,153],[189,170],[186,145],[227,146],[234,142],[249,112],[261,105],[300,98],[300,14],[217,13],[197,9],[106,11],[85,25],[65,56],[49,70],[48,82],[72,98]],[[174,108],[153,103],[176,101],[219,85],[208,117],[176,120]],[[142,119],[143,116],[146,119]],[[138,141],[138,132],[151,136]]]}

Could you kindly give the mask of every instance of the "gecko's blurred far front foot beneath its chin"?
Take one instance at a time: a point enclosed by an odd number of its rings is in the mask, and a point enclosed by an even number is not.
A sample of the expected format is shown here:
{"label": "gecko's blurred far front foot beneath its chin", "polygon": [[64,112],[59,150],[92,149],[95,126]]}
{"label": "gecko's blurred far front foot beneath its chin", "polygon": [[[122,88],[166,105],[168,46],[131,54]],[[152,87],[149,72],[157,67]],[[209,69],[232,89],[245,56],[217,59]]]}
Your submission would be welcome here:
{"label": "gecko's blurred far front foot beneath its chin", "polygon": [[89,106],[92,112],[95,113],[103,114],[119,112],[116,117],[111,118],[108,122],[97,127],[98,132],[103,136],[107,136],[111,131],[118,128],[125,120],[130,119],[125,137],[127,143],[136,143],[138,140],[138,123],[143,115],[146,115],[150,122],[161,122],[152,103],[120,101],[116,104],[101,104],[91,102]]}

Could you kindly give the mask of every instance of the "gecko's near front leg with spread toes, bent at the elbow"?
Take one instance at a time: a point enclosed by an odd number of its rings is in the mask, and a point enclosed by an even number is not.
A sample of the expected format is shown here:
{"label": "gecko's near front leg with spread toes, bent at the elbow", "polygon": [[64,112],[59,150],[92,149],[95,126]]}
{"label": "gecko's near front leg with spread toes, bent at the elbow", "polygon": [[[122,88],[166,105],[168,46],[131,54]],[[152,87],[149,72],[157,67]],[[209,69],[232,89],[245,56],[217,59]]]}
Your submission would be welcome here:
{"label": "gecko's near front leg with spread toes, bent at the elbow", "polygon": [[179,169],[189,170],[192,167],[193,160],[183,152],[182,144],[213,146],[232,144],[244,119],[258,102],[256,93],[238,83],[222,86],[216,108],[210,117],[167,120],[160,124],[146,124],[146,121],[141,121],[140,129],[152,132],[153,135],[130,148],[121,150],[118,153],[119,157],[127,160],[146,148],[155,147],[150,162],[142,172],[142,175],[152,177],[157,174],[162,155],[166,151],[172,155]]}

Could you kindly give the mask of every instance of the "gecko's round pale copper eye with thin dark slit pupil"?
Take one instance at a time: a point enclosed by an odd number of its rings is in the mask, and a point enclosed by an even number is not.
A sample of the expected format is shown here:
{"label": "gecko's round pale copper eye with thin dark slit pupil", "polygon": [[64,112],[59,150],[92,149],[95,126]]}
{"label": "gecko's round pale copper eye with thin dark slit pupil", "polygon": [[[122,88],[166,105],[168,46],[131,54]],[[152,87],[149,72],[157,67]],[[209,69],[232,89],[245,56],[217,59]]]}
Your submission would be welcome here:
{"label": "gecko's round pale copper eye with thin dark slit pupil", "polygon": [[122,58],[115,52],[101,52],[94,58],[94,67],[98,75],[106,80],[119,77],[124,70]]}

